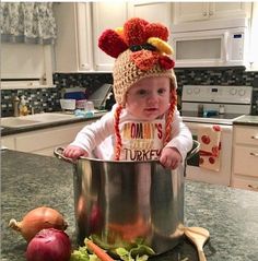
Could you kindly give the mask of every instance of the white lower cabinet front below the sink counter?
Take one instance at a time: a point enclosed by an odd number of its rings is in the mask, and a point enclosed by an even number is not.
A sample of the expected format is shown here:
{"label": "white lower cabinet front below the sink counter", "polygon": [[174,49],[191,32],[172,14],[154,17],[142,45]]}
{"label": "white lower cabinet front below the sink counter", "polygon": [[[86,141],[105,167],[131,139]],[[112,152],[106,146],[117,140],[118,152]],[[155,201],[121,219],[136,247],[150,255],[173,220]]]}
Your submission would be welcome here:
{"label": "white lower cabinet front below the sink counter", "polygon": [[66,124],[2,137],[1,144],[10,150],[52,156],[55,147],[67,146],[77,133],[92,121]]}

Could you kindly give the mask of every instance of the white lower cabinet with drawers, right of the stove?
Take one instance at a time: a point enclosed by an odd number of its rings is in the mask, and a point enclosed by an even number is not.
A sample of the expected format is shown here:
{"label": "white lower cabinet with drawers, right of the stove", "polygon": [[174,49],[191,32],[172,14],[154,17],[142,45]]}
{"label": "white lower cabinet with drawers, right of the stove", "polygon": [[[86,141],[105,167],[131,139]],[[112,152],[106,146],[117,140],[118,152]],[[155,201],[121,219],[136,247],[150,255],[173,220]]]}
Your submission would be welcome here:
{"label": "white lower cabinet with drawers, right of the stove", "polygon": [[258,128],[234,126],[232,187],[258,191]]}

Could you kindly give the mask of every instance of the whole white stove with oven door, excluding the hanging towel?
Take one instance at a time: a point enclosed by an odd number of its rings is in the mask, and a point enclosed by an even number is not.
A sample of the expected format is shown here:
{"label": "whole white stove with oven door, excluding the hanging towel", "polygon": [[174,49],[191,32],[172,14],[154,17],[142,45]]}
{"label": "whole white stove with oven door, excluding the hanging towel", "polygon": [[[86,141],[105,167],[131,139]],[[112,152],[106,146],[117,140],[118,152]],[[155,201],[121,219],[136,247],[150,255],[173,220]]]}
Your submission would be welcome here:
{"label": "whole white stove with oven door, excluding the hanging towel", "polygon": [[200,131],[219,124],[220,167],[207,169],[199,166],[199,155],[187,162],[186,178],[197,181],[230,186],[233,155],[233,121],[249,114],[251,107],[250,86],[185,85],[181,96],[181,117],[199,140]]}

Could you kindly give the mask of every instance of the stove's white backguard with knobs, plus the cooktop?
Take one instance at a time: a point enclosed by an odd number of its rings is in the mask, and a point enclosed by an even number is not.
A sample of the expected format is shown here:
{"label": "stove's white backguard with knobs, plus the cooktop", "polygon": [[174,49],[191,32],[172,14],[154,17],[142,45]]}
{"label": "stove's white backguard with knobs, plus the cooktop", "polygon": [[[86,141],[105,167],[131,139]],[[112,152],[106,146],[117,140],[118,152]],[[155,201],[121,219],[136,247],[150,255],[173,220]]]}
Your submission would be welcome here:
{"label": "stove's white backguard with knobs, plus the cooktop", "polygon": [[181,116],[187,122],[232,124],[249,114],[251,86],[185,85]]}

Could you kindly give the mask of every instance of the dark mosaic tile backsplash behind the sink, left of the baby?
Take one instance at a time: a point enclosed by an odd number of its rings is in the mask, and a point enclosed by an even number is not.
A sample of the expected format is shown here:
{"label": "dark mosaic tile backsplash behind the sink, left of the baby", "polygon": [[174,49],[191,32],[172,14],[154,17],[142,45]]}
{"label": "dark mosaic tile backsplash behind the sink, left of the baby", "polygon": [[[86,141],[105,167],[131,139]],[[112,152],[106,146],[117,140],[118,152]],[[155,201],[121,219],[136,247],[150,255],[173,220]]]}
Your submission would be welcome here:
{"label": "dark mosaic tile backsplash behind the sink, left of the baby", "polygon": [[110,73],[55,73],[52,88],[2,90],[1,116],[13,116],[13,97],[25,95],[28,109],[35,112],[61,110],[59,99],[64,88],[85,88],[87,94],[93,93],[104,83],[112,83]]}

